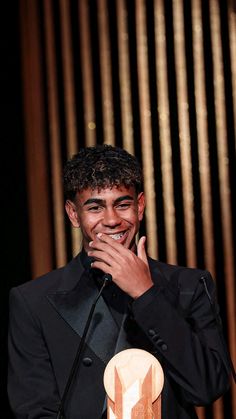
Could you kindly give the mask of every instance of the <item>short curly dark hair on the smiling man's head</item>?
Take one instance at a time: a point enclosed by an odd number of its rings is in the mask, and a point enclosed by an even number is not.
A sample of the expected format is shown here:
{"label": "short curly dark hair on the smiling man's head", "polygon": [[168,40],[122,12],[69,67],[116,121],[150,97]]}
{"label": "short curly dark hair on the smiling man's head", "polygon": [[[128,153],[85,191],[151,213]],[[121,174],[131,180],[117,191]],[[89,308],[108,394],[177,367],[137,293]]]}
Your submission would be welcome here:
{"label": "short curly dark hair on the smiling man's head", "polygon": [[137,159],[126,150],[111,145],[83,148],[64,168],[65,198],[74,200],[84,189],[113,186],[134,187],[142,191],[142,171]]}

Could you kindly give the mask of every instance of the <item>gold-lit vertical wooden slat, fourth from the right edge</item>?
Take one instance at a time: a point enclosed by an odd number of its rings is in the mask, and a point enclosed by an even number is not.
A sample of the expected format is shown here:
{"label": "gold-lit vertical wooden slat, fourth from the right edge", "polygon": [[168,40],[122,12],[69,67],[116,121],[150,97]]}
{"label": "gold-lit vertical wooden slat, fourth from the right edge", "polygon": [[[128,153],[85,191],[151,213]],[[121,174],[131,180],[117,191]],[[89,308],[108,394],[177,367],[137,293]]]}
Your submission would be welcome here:
{"label": "gold-lit vertical wooden slat, fourth from the right edge", "polygon": [[193,211],[193,183],[189,127],[189,104],[187,92],[187,68],[185,59],[185,36],[183,0],[173,0],[175,71],[179,117],[179,143],[183,182],[186,259],[188,266],[196,266],[196,237]]}

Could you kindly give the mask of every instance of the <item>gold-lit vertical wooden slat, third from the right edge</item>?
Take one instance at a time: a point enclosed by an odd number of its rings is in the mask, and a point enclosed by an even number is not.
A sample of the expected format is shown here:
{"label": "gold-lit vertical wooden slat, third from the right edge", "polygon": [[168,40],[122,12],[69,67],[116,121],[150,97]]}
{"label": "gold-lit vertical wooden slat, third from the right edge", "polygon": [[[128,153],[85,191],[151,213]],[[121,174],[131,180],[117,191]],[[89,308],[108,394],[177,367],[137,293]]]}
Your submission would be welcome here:
{"label": "gold-lit vertical wooden slat, third from the right edge", "polygon": [[196,101],[196,123],[199,153],[199,174],[202,200],[202,222],[204,256],[206,268],[215,275],[213,248],[212,198],[210,185],[210,162],[207,130],[207,106],[205,92],[205,69],[203,56],[203,28],[201,1],[192,1],[193,17],[193,60]]}

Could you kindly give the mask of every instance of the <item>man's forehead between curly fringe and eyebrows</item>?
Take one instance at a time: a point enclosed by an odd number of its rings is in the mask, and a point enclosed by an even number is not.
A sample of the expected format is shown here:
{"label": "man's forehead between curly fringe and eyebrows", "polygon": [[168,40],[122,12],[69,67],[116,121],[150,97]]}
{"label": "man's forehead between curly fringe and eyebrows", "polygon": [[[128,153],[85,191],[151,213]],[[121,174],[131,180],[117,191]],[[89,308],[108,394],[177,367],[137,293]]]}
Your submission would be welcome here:
{"label": "man's forehead between curly fringe and eyebrows", "polygon": [[88,199],[101,199],[103,201],[115,201],[122,196],[130,196],[133,199],[136,198],[136,192],[134,187],[126,188],[125,186],[113,186],[104,189],[91,189],[87,188],[83,191],[77,192],[77,202],[83,203]]}

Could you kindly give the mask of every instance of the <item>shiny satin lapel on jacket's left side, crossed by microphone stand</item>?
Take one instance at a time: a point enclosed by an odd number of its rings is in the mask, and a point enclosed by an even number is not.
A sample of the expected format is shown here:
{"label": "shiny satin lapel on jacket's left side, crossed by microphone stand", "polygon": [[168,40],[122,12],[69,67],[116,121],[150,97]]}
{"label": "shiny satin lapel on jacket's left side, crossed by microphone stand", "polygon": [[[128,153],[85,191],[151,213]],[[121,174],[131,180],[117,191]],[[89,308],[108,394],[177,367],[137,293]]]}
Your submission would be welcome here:
{"label": "shiny satin lapel on jacket's left side, crossed by microphone stand", "polygon": [[[85,274],[83,266],[78,261],[76,272],[70,270],[70,283],[75,283],[71,290],[58,290],[47,296],[49,302],[67,324],[80,336],[98,295],[98,289],[89,275]],[[76,280],[74,275],[76,274]],[[86,337],[86,344],[105,363],[114,354],[118,336],[118,328],[106,306],[102,296],[97,301],[91,324]]]}

